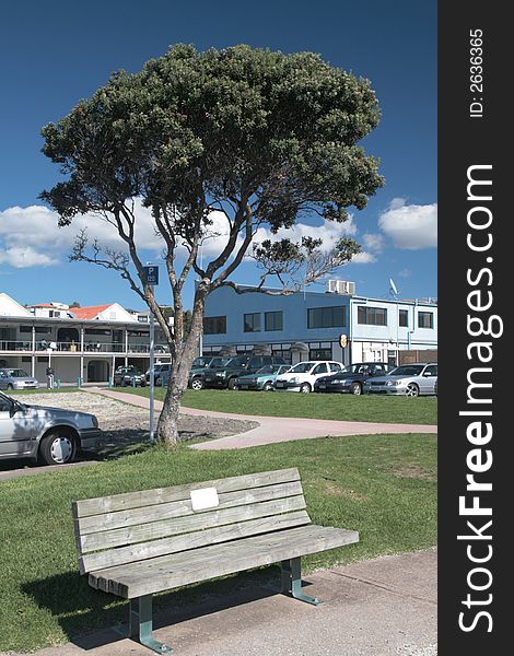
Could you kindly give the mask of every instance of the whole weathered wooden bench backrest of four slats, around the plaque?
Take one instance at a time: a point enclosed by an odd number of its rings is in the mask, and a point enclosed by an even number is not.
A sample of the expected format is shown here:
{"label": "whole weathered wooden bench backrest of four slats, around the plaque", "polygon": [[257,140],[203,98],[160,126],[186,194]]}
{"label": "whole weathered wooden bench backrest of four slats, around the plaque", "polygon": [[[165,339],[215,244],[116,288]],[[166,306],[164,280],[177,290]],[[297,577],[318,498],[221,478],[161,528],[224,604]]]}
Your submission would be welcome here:
{"label": "whole weathered wooden bench backrest of four slats, around the plaque", "polygon": [[[207,488],[218,503],[194,509]],[[79,501],[73,516],[82,573],[311,523],[295,468]]]}

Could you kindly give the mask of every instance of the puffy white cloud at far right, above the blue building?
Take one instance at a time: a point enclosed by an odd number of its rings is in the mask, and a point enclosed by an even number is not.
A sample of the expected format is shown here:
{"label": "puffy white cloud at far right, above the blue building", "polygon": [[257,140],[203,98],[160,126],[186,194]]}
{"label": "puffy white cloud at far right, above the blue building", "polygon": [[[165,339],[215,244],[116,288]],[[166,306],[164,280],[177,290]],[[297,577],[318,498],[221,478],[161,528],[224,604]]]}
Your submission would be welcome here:
{"label": "puffy white cloud at far right, above the blue building", "polygon": [[406,204],[395,198],[378,218],[378,226],[397,248],[418,250],[437,246],[437,203]]}

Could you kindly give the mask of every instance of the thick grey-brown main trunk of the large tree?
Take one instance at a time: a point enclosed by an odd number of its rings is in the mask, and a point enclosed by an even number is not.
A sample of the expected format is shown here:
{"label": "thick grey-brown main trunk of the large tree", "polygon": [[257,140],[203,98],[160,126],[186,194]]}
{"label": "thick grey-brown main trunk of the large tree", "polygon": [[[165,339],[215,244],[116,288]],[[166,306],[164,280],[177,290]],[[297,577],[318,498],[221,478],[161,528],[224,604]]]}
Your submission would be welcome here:
{"label": "thick grey-brown main trunk of the large tree", "polygon": [[175,446],[180,440],[178,434],[180,401],[187,389],[189,371],[197,354],[202,321],[203,297],[200,297],[197,291],[192,309],[191,329],[186,340],[180,344],[176,344],[174,349],[176,358],[172,363],[166,396],[164,397],[163,409],[157,422],[156,438],[170,447]]}

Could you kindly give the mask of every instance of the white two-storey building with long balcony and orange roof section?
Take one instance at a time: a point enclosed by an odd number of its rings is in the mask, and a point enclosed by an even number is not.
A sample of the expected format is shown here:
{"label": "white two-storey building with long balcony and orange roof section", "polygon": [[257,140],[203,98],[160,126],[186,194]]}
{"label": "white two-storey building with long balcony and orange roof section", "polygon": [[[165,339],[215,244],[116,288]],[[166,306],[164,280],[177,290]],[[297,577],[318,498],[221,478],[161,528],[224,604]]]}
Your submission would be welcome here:
{"label": "white two-storey building with long balcony and orange roof section", "polygon": [[[118,303],[71,309],[42,303],[31,309],[0,293],[0,366],[25,370],[45,382],[51,365],[62,384],[107,383],[119,365],[147,371],[149,326]],[[156,361],[170,361],[159,328],[155,354]]]}

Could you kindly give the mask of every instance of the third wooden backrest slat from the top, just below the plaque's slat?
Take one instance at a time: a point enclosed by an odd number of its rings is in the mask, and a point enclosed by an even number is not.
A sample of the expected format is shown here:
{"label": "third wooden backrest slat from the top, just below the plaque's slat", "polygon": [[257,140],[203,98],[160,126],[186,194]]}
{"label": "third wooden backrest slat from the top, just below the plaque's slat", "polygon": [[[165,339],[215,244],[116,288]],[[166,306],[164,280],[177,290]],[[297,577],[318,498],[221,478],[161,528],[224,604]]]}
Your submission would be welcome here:
{"label": "third wooden backrest slat from the top, just below the plaque's slat", "polygon": [[80,536],[78,546],[80,553],[84,554],[100,549],[106,550],[186,532],[191,534],[197,530],[236,522],[246,522],[257,517],[293,513],[304,509],[305,505],[303,494],[297,494],[295,496],[260,502],[253,505],[221,508],[209,513],[171,517],[163,522],[152,522],[139,526],[128,526],[103,532],[87,534]]}

